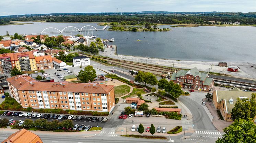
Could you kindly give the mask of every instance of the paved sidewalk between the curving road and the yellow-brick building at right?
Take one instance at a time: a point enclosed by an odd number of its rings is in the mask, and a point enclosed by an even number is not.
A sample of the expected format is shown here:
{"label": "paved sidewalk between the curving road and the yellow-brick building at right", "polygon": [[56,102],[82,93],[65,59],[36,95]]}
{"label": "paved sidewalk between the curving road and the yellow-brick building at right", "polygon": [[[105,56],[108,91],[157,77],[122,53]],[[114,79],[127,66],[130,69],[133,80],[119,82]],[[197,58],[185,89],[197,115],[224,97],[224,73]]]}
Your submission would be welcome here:
{"label": "paved sidewalk between the curving road and the yellow-brick building at right", "polygon": [[[225,127],[228,127],[230,124],[233,123],[233,121],[225,121],[225,120],[221,120],[213,103],[212,102],[208,102],[207,99],[203,99],[203,101],[206,103],[206,107],[208,108],[208,110],[210,111],[210,113],[213,116],[212,119],[212,124],[220,131],[223,132],[223,129]],[[209,103],[211,103],[211,105],[209,105]]]}

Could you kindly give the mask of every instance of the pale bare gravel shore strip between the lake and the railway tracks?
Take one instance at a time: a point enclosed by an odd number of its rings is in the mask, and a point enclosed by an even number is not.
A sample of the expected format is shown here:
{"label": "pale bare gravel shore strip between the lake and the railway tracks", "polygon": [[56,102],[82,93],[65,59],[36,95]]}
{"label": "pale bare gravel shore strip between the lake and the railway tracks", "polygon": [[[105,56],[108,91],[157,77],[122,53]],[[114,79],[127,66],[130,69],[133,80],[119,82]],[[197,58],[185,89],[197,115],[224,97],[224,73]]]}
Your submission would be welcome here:
{"label": "pale bare gravel shore strip between the lake and the railway tracks", "polygon": [[[211,61],[186,61],[186,60],[171,60],[163,58],[151,58],[151,57],[142,57],[142,56],[133,56],[133,55],[121,55],[115,54],[115,51],[111,51],[111,48],[106,48],[107,52],[99,52],[99,55],[114,58],[122,59],[127,61],[135,61],[140,63],[149,63],[152,65],[160,65],[165,67],[174,67],[181,69],[192,69],[197,67],[199,71],[204,72],[216,72],[222,74],[228,74],[234,77],[243,77],[254,80],[256,76],[256,62],[227,62],[229,66],[238,66],[240,69],[238,72],[229,72],[227,71],[228,67],[219,67],[218,62]],[[249,68],[249,66],[254,66]]]}

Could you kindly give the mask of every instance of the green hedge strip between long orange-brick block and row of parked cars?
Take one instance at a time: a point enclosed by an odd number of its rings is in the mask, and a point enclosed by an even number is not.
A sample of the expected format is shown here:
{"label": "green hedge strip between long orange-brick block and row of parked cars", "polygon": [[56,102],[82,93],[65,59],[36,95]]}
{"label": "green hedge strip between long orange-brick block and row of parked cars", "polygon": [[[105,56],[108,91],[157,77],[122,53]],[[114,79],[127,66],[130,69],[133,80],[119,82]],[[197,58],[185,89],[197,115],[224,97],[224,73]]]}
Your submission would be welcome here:
{"label": "green hedge strip between long orange-brick block and row of parked cars", "polygon": [[22,108],[22,106],[13,98],[7,97],[0,105],[1,110],[13,110],[23,112],[38,112],[38,113],[56,113],[56,114],[75,114],[75,115],[93,115],[93,116],[107,116],[108,112],[97,111],[82,111],[82,110],[62,110],[62,109],[32,109],[31,107]]}

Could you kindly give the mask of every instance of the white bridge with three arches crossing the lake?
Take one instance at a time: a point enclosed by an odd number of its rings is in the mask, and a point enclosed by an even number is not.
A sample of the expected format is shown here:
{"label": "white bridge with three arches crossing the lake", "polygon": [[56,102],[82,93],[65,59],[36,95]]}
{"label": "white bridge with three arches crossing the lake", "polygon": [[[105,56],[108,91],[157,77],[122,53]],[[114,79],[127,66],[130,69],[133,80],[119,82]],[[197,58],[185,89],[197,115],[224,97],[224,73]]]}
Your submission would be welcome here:
{"label": "white bridge with three arches crossing the lake", "polygon": [[72,32],[85,32],[85,33],[88,32],[88,34],[89,34],[89,32],[92,32],[92,31],[105,30],[107,28],[107,26],[108,25],[106,25],[102,29],[97,29],[91,25],[83,26],[81,29],[78,29],[77,27],[74,27],[74,26],[68,26],[68,27],[63,28],[62,30],[59,30],[54,27],[48,27],[48,28],[45,28],[44,30],[42,30],[41,33],[34,33],[34,34],[44,35],[44,34],[53,34],[53,33],[72,33]]}

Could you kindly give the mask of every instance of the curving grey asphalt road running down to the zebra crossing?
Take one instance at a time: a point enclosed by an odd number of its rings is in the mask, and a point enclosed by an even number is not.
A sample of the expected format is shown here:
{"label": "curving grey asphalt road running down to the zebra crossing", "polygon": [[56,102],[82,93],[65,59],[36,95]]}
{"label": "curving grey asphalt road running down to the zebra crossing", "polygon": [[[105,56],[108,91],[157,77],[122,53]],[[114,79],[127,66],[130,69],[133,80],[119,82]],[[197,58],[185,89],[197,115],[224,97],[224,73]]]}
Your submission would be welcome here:
{"label": "curving grey asphalt road running down to the zebra crossing", "polygon": [[180,96],[179,101],[185,104],[192,113],[194,129],[216,130],[203,107],[197,102],[186,96]]}

